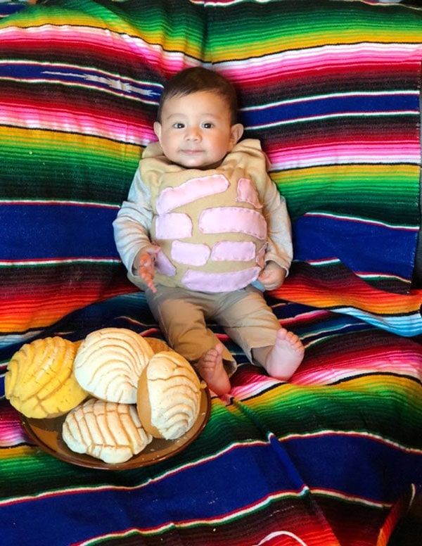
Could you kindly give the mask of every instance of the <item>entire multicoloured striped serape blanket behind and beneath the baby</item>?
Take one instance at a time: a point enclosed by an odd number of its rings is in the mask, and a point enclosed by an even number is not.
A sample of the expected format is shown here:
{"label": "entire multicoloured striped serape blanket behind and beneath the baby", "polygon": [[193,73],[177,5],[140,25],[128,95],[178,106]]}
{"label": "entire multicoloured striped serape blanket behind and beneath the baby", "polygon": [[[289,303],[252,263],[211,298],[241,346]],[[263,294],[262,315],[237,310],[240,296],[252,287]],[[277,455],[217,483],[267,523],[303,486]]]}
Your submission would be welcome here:
{"label": "entire multicoloured striped serape blanket behind and beneath the baby", "polygon": [[[406,3],[409,6],[412,4]],[[422,485],[422,291],[411,287],[422,11],[343,0],[48,0],[0,20],[0,396],[25,341],[160,336],[111,224],[165,79],[236,85],[293,221],[268,295],[305,360],[242,364],[167,462],[84,469],[0,400],[1,545],[384,546]]]}

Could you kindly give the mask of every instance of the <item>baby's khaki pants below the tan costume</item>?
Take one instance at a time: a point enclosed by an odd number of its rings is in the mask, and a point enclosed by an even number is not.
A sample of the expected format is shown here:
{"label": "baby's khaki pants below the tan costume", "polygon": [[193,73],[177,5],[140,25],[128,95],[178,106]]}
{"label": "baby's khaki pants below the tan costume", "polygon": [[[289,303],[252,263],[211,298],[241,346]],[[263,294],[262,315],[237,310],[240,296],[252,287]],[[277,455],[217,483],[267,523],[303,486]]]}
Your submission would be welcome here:
{"label": "baby's khaki pants below the tan costume", "polygon": [[[146,299],[170,346],[193,364],[218,343],[205,321],[223,326],[253,364],[252,349],[272,347],[280,329],[262,293],[252,286],[224,293],[157,286],[156,293],[146,290]],[[232,374],[236,361],[226,348],[223,360],[228,374]]]}

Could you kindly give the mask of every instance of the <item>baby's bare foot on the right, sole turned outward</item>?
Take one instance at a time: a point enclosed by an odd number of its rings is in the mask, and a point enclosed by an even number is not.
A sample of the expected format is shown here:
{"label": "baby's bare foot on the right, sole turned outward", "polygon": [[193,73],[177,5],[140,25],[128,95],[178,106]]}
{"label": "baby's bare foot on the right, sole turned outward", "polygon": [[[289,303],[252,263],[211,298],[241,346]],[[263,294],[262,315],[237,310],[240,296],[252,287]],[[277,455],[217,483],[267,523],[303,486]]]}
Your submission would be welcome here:
{"label": "baby's bare foot on the right, sole turned outward", "polygon": [[298,336],[281,328],[277,332],[276,343],[263,364],[264,368],[271,377],[288,381],[302,362],[304,352]]}

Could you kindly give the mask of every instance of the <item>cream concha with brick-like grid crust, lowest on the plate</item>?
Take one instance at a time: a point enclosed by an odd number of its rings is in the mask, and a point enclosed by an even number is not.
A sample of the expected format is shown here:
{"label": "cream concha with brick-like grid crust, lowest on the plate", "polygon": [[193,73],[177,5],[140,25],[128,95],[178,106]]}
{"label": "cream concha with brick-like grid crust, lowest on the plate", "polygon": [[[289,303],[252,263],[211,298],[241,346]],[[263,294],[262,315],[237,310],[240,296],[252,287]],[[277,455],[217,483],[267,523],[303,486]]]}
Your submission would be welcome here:
{"label": "cream concha with brick-like grid crust, lowest on the plate", "polygon": [[62,438],[70,450],[110,464],[125,462],[153,439],[143,430],[134,405],[91,398],[67,415]]}

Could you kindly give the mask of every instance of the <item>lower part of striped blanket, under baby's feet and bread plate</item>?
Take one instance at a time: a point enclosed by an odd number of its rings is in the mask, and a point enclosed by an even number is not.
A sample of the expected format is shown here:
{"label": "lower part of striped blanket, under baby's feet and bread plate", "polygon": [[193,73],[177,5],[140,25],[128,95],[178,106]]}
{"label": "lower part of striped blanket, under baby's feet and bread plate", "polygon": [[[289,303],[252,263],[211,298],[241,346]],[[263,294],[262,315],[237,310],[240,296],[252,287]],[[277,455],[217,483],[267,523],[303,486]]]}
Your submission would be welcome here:
{"label": "lower part of striped blanket, under baby's feet and bread plate", "polygon": [[[0,402],[1,544],[386,546],[422,486],[422,340],[269,303],[302,338],[302,366],[280,383],[241,364],[231,396],[212,399],[203,433],[167,462],[72,466],[34,447]],[[159,335],[140,293],[46,334],[103,326]]]}

